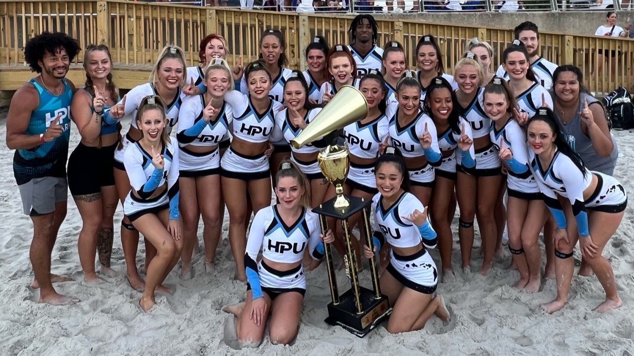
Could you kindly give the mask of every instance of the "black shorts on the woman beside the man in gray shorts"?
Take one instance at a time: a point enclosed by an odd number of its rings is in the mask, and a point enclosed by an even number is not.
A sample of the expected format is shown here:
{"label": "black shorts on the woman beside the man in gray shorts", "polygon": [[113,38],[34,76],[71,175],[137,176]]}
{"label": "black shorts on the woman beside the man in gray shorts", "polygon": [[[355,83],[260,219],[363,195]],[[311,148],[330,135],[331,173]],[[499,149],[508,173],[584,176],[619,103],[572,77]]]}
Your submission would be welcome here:
{"label": "black shorts on the woman beside the man in gray shorts", "polygon": [[99,193],[101,187],[115,185],[113,166],[115,149],[119,143],[101,148],[79,143],[68,158],[68,189],[70,194]]}

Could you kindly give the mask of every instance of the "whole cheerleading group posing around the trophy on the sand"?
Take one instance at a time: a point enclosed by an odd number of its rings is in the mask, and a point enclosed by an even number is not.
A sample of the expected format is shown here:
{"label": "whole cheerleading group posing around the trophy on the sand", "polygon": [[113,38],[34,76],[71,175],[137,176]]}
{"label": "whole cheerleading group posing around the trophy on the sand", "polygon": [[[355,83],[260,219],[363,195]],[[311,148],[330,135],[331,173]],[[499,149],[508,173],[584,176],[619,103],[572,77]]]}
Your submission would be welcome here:
{"label": "whole cheerleading group posing around the trophy on the sand", "polygon": [[[82,217],[78,250],[87,283],[100,281],[96,255],[100,273],[113,273],[113,215],[122,203],[127,280],[142,293],[144,311],[155,305],[156,292],[170,291],[163,283],[179,260],[181,277],[192,277],[200,217],[205,267],[214,269],[226,207],[235,278],[247,281],[246,301],[225,308],[235,315],[225,326],[234,336],[228,342],[259,345],[269,320],[271,341],[290,343],[305,273],[320,263],[324,243],[344,255],[344,231],[331,221],[337,228],[321,234],[311,212],[335,196],[317,163],[329,143],[321,139],[298,149],[289,143],[342,86],[354,86],[365,96],[368,114],[342,130],[350,153],[344,193],[373,202],[375,250],[356,239],[353,245],[359,261],[380,256],[380,288],[393,307],[389,332],[421,329],[433,315],[450,319],[436,289],[439,281],[455,281],[456,208],[463,273],[472,272],[474,220],[483,275],[496,255],[503,256],[506,227],[510,268],[519,271],[515,288],[534,293],[542,277],[556,278],[557,297],[543,305],[553,313],[567,303],[579,241],[579,273],[596,274],[605,289],[597,310],[620,307],[602,251],[623,218],[627,196],[611,176],[618,149],[604,108],[581,84],[579,68],[540,57],[538,28],[531,22],[515,29],[516,40],[495,73],[491,46],[477,39],[467,43],[450,75],[433,35],[418,41],[417,70],[410,71],[399,42],[376,44],[372,16],[357,16],[349,31],[349,45],[329,47],[314,37],[304,72],[285,67],[278,30],[263,32],[261,59],[244,67],[242,60],[229,67],[221,35],[200,43],[197,67],[187,68],[183,51],[166,46],[149,82],[122,98],[106,46],[84,50],[86,82],[75,88],[65,75],[79,52],[76,41],[44,33],[27,42],[25,59],[38,75],[11,101],[7,145],[16,150],[15,177],[34,224],[30,258],[40,302],[76,302],[51,284],[67,279],[50,274],[67,189]],[[121,136],[126,115],[133,119]],[[81,143],[67,167],[71,120]],[[352,217],[350,229],[360,221]],[[141,234],[146,256],[139,272]],[[436,246],[440,269],[428,251]]]}

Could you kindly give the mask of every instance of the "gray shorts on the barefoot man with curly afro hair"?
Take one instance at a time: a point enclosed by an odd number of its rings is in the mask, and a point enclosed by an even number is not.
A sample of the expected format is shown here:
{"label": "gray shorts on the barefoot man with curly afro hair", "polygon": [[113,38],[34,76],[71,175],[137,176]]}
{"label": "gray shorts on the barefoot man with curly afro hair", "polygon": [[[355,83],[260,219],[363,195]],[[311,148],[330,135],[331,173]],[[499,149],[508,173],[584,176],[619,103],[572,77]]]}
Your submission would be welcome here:
{"label": "gray shorts on the barefoot man with curly afro hair", "polygon": [[18,188],[26,215],[37,216],[55,212],[55,203],[68,200],[66,178],[34,178]]}

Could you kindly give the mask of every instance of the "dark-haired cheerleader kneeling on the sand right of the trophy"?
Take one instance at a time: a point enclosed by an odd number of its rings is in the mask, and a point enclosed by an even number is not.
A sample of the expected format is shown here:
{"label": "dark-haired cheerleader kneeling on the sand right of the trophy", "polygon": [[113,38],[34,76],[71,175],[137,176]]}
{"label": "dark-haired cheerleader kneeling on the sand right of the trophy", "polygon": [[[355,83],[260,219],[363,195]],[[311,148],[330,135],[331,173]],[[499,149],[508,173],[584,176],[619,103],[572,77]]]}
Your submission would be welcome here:
{"label": "dark-haired cheerleader kneeling on the sand right of the trophy", "polygon": [[436,232],[427,221],[427,209],[408,192],[408,170],[393,148],[378,157],[375,177],[374,251],[364,245],[364,255],[371,258],[385,243],[392,246],[389,265],[380,277],[380,289],[393,307],[387,331],[396,334],[422,329],[434,314],[449,321],[443,296],[434,296],[438,272],[427,252],[427,248],[436,247]]}

